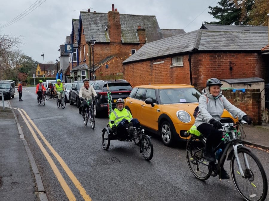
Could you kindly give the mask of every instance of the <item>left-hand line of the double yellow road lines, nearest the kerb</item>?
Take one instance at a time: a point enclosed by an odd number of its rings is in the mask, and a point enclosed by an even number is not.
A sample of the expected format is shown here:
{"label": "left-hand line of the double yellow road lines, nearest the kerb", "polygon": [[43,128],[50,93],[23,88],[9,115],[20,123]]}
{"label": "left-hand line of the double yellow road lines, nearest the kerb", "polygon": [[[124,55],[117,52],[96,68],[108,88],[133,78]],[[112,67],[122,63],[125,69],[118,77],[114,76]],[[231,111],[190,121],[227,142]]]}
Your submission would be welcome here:
{"label": "left-hand line of the double yellow road lines, nearest the kerb", "polygon": [[71,189],[69,188],[69,186],[65,182],[64,178],[62,177],[62,174],[59,172],[59,169],[56,167],[54,161],[52,160],[52,158],[50,157],[50,155],[46,151],[45,147],[43,147],[41,141],[38,139],[36,133],[34,132],[33,128],[28,123],[26,117],[22,114],[22,111],[21,110],[18,110],[18,111],[21,114],[23,120],[25,121],[27,127],[29,128],[30,132],[32,133],[33,138],[35,139],[36,143],[38,144],[40,150],[43,152],[44,156],[48,160],[48,163],[50,164],[51,169],[53,170],[55,176],[57,177],[57,179],[58,179],[58,181],[60,183],[60,185],[62,186],[63,190],[65,191],[65,194],[68,197],[68,200],[74,200],[75,201],[76,200],[76,197],[74,196],[74,194],[72,193]]}

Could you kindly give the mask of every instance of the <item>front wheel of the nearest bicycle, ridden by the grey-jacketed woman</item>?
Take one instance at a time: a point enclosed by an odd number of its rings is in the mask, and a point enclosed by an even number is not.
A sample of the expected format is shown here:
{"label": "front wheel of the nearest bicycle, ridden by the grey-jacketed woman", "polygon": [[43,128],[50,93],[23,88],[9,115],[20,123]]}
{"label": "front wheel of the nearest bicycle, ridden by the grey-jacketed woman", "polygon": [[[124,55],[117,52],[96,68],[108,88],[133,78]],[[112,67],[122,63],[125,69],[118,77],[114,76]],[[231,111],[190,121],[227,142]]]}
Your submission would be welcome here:
{"label": "front wheel of the nearest bicycle, ridden by the grey-jacketed woman", "polygon": [[231,160],[233,182],[240,195],[248,201],[263,201],[268,191],[268,183],[262,163],[247,149],[238,149],[238,160],[244,176],[240,174],[236,157]]}

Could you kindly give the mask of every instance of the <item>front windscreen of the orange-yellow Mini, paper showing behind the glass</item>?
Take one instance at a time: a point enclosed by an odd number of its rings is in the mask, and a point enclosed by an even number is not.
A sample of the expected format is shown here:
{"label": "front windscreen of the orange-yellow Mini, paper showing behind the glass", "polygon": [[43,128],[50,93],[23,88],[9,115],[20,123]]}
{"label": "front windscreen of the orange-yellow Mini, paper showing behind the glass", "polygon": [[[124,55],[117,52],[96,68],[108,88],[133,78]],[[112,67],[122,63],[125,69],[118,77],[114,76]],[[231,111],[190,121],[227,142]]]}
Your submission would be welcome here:
{"label": "front windscreen of the orange-yellow Mini, paper showing behind the glass", "polygon": [[160,89],[161,104],[199,102],[201,93],[196,88]]}

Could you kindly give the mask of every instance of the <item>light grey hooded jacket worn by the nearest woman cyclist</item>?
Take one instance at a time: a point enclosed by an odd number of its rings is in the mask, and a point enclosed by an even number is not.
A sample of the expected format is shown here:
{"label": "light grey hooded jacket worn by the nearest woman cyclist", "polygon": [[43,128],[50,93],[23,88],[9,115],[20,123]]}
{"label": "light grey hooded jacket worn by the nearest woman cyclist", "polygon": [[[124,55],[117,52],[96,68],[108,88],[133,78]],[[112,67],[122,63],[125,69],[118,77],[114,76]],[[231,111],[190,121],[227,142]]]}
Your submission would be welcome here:
{"label": "light grey hooded jacket worn by the nearest woman cyclist", "polygon": [[[199,98],[199,113],[195,119],[196,128],[202,123],[210,124],[211,119],[217,121],[221,120],[221,115],[223,110],[226,109],[228,112],[238,116],[239,119],[242,119],[244,115],[247,115],[242,110],[232,105],[220,91],[220,96],[217,99],[214,99],[213,95],[209,92],[209,87],[203,89],[202,96]],[[208,98],[208,99],[207,99]]]}

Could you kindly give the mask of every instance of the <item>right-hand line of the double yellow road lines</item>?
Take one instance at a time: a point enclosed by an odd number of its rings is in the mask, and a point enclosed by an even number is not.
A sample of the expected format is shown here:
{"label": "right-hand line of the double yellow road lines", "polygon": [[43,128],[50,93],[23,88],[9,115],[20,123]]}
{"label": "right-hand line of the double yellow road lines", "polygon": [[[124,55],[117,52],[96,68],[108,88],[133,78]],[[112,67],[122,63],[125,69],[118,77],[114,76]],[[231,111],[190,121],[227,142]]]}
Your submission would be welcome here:
{"label": "right-hand line of the double yellow road lines", "polygon": [[[59,156],[59,154],[55,151],[55,149],[51,146],[51,144],[49,144],[49,142],[46,140],[46,138],[44,137],[44,135],[41,133],[41,131],[36,127],[36,125],[33,123],[33,121],[30,119],[30,117],[27,115],[27,113],[23,110],[22,112],[25,114],[25,116],[27,117],[28,121],[32,124],[32,126],[34,127],[34,129],[37,131],[37,133],[39,134],[39,136],[41,137],[41,139],[44,141],[44,143],[47,145],[47,147],[50,149],[51,153],[55,156],[55,158],[59,161],[59,163],[61,164],[62,168],[65,170],[66,174],[69,176],[69,178],[72,180],[72,182],[74,183],[74,185],[77,187],[77,189],[80,191],[81,196],[83,197],[83,199],[85,201],[91,201],[90,196],[87,194],[87,192],[85,191],[85,189],[83,188],[83,186],[80,184],[80,182],[77,180],[77,178],[75,177],[75,175],[73,174],[73,172],[69,169],[69,167],[66,165],[66,163],[64,162],[64,160],[62,160],[62,158]],[[28,122],[27,122],[28,123]],[[42,145],[42,144],[41,144]]]}

